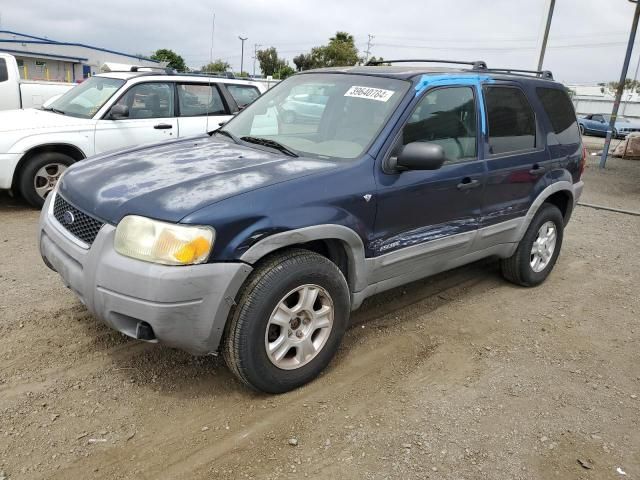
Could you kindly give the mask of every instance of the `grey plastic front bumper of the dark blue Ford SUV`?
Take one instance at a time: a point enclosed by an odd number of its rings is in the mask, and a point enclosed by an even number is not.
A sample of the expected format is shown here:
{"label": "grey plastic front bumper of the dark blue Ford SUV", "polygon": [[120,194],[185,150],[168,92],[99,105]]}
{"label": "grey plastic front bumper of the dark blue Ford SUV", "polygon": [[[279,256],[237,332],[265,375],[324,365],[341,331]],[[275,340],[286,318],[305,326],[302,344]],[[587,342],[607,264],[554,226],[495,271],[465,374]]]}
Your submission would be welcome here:
{"label": "grey plastic front bumper of the dark blue Ford SUV", "polygon": [[115,227],[108,224],[83,248],[50,213],[53,196],[40,216],[40,253],[98,319],[133,338],[141,338],[145,322],[154,340],[195,355],[218,350],[250,265],[166,266],[128,258],[113,249]]}

